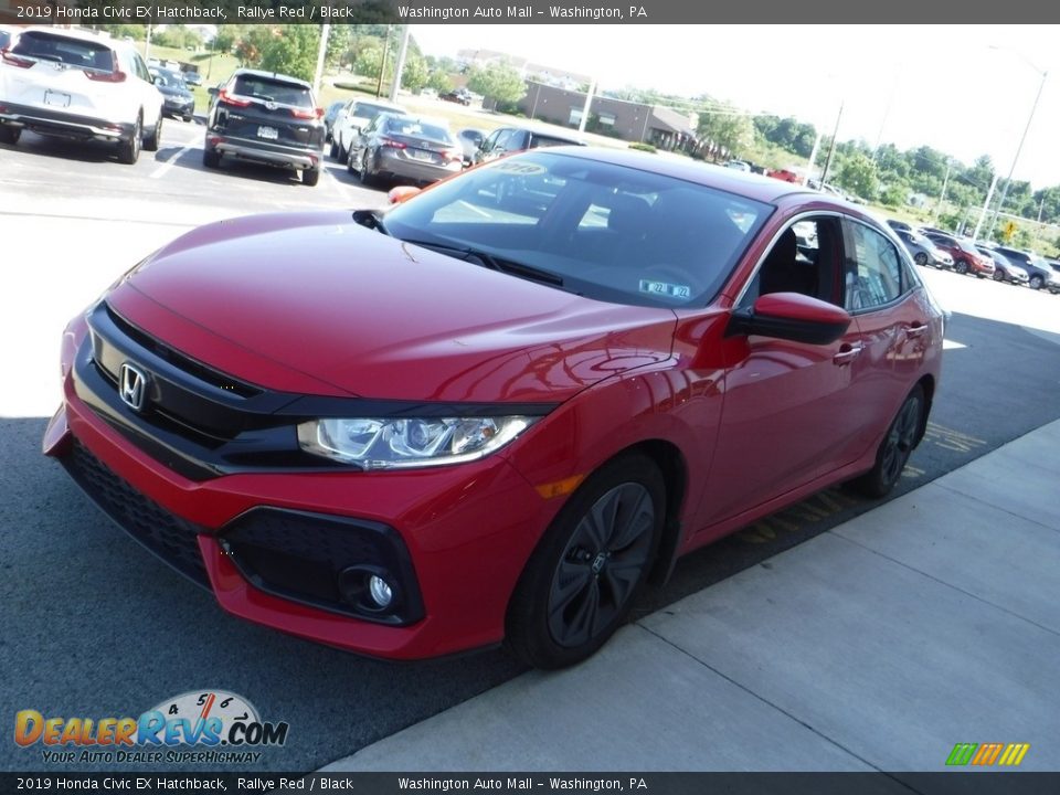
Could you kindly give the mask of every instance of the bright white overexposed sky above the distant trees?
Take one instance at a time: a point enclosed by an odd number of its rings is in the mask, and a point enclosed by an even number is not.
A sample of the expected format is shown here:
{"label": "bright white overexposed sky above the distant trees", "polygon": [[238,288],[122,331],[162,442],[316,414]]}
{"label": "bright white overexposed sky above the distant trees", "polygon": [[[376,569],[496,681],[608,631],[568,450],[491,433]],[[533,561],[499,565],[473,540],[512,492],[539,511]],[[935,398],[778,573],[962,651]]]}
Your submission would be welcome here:
{"label": "bright white overexposed sky above the distant trees", "polygon": [[[601,88],[709,94],[794,116],[839,140],[928,145],[1060,186],[1060,25],[412,25],[421,50],[507,52]],[[1048,77],[1042,86],[1042,73]]]}

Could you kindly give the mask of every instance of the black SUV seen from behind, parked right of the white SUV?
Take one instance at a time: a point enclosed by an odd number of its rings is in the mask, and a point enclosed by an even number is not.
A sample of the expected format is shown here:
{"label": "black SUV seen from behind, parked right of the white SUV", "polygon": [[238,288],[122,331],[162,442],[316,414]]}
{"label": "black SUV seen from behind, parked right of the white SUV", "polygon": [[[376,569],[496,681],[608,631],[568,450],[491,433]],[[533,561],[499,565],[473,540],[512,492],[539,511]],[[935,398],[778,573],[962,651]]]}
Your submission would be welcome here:
{"label": "black SUV seen from behind, parked right of the white SUV", "polygon": [[236,70],[210,94],[206,168],[218,168],[226,156],[297,169],[307,186],[320,180],[326,131],[312,86],[273,72]]}

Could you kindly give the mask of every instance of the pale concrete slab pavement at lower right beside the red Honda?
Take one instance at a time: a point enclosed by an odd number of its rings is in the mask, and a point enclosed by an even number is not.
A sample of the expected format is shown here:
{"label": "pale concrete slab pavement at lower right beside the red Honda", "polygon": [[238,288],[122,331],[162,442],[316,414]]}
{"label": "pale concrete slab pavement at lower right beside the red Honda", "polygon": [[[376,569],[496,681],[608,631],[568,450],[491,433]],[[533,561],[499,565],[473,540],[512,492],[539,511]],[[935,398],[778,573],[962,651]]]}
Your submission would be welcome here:
{"label": "pale concrete slab pavement at lower right beside the red Honda", "polygon": [[1058,674],[1060,421],[325,770],[1057,771]]}

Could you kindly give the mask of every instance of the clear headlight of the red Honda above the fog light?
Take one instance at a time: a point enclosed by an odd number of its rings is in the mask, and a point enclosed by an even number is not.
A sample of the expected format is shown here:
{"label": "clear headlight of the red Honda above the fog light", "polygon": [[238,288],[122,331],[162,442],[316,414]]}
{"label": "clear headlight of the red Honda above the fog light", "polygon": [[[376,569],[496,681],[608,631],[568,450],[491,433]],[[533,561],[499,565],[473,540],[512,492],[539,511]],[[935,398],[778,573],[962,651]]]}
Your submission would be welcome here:
{"label": "clear headlight of the red Honda above the fog light", "polygon": [[364,469],[444,466],[494,453],[540,417],[311,420],[298,425],[307,453]]}

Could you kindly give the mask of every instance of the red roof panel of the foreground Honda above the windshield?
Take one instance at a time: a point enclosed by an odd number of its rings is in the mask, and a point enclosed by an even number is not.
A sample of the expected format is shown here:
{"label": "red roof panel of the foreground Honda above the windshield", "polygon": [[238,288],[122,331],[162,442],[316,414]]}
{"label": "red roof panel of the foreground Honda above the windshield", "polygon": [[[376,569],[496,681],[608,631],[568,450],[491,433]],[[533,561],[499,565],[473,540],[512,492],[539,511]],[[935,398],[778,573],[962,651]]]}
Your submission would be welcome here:
{"label": "red roof panel of the foreground Honda above the windshield", "polygon": [[748,171],[738,171],[721,166],[712,166],[686,158],[669,158],[661,157],[658,153],[639,152],[633,149],[605,149],[602,147],[550,147],[547,151],[549,153],[563,153],[570,157],[601,160],[615,163],[616,166],[653,171],[666,177],[688,180],[771,204],[783,197],[806,195],[816,201],[827,201],[840,206],[855,206],[826,193],[786,182],[785,180],[749,173]]}

